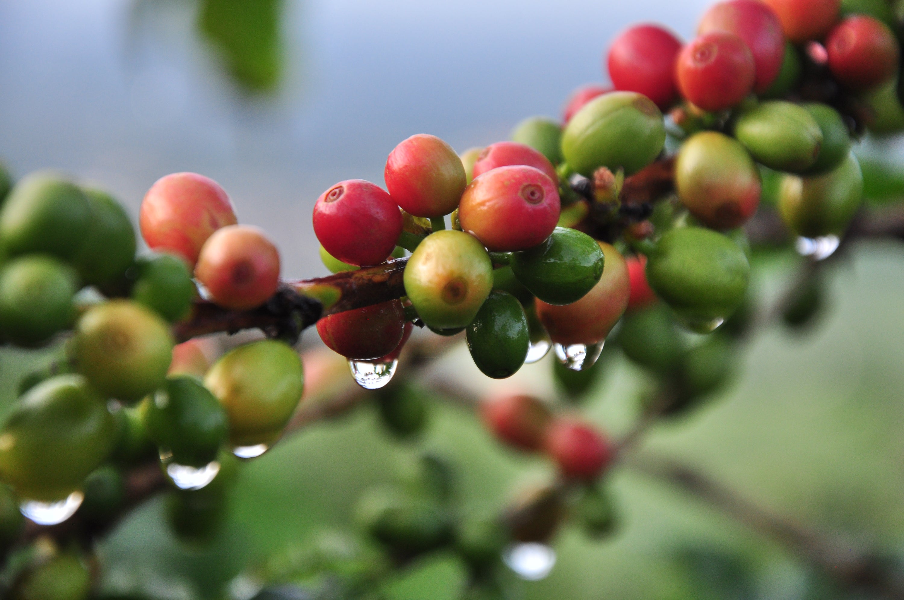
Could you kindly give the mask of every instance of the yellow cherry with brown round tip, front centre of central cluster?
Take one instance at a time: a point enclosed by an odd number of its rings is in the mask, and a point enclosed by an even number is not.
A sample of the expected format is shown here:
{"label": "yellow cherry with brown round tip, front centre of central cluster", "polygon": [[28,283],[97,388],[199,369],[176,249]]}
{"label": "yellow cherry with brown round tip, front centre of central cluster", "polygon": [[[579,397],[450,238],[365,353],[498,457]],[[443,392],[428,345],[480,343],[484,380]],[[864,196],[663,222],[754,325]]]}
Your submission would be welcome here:
{"label": "yellow cherry with brown round tip, front centre of central cluster", "polygon": [[477,239],[462,231],[429,235],[405,267],[405,293],[430,327],[466,327],[493,288],[493,263]]}

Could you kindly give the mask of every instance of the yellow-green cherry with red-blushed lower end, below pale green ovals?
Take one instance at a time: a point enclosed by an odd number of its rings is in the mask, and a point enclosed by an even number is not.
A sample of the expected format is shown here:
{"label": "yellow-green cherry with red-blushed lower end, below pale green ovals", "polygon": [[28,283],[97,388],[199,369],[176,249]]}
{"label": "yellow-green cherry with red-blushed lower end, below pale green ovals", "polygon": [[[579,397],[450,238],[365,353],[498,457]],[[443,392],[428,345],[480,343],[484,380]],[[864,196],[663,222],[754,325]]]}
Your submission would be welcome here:
{"label": "yellow-green cherry with red-blushed lower end, below pale green ovals", "polygon": [[715,131],[692,136],[678,152],[674,178],[684,206],[710,227],[739,227],[757,211],[757,165],[729,136]]}

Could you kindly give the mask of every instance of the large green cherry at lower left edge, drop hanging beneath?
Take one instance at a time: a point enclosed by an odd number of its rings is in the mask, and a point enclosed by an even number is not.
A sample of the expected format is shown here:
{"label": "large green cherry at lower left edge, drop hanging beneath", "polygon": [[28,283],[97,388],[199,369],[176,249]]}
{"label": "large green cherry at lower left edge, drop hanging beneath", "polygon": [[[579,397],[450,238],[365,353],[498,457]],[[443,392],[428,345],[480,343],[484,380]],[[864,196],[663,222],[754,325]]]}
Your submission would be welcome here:
{"label": "large green cherry at lower left edge, drop hanging beneath", "polygon": [[106,399],[80,375],[58,375],[20,398],[0,429],[0,478],[24,499],[61,500],[107,458],[115,435]]}

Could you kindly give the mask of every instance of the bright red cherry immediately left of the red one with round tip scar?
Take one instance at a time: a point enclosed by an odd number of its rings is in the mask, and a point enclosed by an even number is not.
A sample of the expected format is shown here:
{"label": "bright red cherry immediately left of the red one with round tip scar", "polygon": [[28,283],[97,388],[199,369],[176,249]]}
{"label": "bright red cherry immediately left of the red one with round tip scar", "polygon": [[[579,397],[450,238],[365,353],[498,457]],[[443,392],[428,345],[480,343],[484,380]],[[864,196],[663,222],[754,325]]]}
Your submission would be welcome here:
{"label": "bright red cherry immediately left of the red one with round tip scar", "polygon": [[635,25],[619,33],[609,48],[607,65],[615,89],[636,91],[660,109],[672,105],[675,89],[675,59],[681,40],[658,25]]}

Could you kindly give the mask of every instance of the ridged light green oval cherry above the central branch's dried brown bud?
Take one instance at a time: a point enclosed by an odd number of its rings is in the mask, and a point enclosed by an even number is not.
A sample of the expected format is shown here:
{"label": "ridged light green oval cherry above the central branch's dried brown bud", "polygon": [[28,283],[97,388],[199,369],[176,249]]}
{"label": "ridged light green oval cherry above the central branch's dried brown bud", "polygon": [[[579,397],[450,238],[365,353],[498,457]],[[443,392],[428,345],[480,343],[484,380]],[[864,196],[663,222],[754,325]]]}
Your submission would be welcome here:
{"label": "ridged light green oval cherry above the central branch's dried brown bud", "polygon": [[590,100],[562,133],[562,156],[588,177],[601,166],[630,175],[654,161],[665,144],[663,114],[642,94],[616,91]]}

